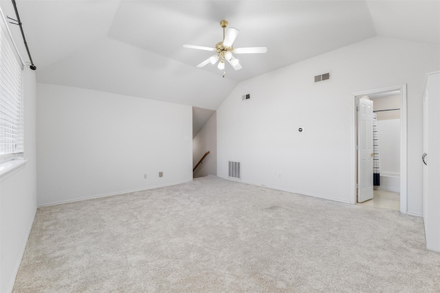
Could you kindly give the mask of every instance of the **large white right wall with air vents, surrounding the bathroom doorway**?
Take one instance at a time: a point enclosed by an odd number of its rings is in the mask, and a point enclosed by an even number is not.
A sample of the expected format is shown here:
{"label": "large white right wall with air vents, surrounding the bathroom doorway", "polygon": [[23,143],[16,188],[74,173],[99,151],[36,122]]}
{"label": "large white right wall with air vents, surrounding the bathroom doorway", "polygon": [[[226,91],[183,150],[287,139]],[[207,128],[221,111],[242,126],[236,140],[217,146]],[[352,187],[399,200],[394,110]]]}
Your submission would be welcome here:
{"label": "large white right wall with air vents, surrounding the bathroom doorway", "polygon": [[408,212],[421,215],[421,93],[439,56],[437,45],[375,37],[241,82],[217,110],[217,175],[237,160],[245,183],[349,202],[352,93],[407,83]]}

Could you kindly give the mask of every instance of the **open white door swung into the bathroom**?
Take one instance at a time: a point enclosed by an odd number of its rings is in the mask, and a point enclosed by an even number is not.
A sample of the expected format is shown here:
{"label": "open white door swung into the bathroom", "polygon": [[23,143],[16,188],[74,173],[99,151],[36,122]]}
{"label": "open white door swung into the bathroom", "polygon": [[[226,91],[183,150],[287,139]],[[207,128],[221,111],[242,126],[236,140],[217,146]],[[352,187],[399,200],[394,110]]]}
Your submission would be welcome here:
{"label": "open white door swung into the bathroom", "polygon": [[358,98],[358,202],[373,198],[373,101]]}

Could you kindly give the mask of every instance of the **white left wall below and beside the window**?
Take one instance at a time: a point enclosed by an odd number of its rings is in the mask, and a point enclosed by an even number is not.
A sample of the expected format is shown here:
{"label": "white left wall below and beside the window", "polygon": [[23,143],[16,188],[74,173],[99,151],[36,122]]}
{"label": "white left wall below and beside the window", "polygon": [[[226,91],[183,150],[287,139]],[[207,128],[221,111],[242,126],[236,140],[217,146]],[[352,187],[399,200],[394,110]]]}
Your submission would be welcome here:
{"label": "white left wall below and beside the window", "polygon": [[25,159],[0,180],[0,292],[12,291],[36,213],[36,78],[23,73]]}

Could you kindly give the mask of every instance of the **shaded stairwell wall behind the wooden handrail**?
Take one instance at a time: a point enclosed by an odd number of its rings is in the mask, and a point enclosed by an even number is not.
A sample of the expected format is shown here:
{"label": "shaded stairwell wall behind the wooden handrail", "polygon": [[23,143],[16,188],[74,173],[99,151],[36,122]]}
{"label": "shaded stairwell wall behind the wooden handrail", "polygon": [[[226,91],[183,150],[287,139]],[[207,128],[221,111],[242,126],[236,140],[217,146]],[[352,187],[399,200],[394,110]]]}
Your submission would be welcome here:
{"label": "shaded stairwell wall behind the wooden handrail", "polygon": [[192,139],[192,166],[195,167],[203,154],[208,151],[210,152],[208,156],[195,170],[194,178],[217,176],[217,113],[215,112]]}

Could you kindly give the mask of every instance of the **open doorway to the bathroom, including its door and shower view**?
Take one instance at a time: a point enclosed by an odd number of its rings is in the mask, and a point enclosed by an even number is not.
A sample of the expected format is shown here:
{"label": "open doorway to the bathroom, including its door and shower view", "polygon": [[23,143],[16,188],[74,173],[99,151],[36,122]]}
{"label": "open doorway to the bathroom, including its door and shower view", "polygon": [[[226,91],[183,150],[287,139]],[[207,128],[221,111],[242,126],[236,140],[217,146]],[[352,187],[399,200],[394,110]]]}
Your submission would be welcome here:
{"label": "open doorway to the bathroom, including its door and shower view", "polygon": [[[369,105],[372,117],[362,118]],[[351,202],[406,213],[406,84],[353,93],[353,113]]]}

